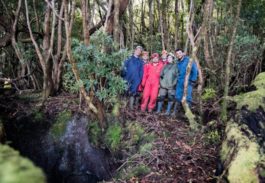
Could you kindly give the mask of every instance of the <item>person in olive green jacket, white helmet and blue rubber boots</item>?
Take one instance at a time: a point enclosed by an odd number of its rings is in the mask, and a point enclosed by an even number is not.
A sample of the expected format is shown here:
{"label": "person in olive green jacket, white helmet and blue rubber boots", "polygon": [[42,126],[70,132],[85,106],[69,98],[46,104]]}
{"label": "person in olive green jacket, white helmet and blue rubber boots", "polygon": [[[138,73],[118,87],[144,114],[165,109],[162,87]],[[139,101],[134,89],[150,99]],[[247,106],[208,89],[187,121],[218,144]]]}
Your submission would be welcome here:
{"label": "person in olive green jacket, white helmet and blue rubber boots", "polygon": [[168,64],[164,65],[160,73],[160,89],[159,89],[159,99],[156,114],[161,112],[161,108],[164,103],[165,95],[168,93],[168,109],[165,113],[166,116],[170,114],[171,107],[174,102],[175,90],[178,78],[178,67],[177,64],[173,62],[175,56],[173,53],[169,53],[167,56]]}

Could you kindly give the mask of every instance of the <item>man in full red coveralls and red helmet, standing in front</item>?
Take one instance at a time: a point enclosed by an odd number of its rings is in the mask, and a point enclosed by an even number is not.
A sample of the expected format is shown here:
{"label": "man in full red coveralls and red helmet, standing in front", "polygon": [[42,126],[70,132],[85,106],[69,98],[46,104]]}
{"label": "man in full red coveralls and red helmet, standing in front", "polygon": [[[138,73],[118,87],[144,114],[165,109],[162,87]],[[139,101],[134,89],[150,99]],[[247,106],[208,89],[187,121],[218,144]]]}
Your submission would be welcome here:
{"label": "man in full red coveralls and red helmet, standing in front", "polygon": [[148,113],[151,113],[154,109],[154,106],[157,102],[158,87],[159,87],[159,75],[162,69],[162,65],[158,63],[159,56],[157,53],[152,55],[151,64],[147,65],[145,72],[143,73],[142,85],[144,86],[143,90],[143,99],[141,104],[141,112],[147,106],[148,98],[150,96],[150,102],[148,104]]}

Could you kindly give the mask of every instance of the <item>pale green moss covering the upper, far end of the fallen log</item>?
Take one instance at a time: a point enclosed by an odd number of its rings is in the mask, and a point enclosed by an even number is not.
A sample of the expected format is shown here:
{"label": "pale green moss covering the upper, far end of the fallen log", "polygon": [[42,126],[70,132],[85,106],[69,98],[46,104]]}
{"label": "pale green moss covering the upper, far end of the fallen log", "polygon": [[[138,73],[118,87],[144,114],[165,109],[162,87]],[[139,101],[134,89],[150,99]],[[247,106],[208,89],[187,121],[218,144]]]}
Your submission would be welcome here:
{"label": "pale green moss covering the upper, far end of the fallen log", "polygon": [[243,94],[242,96],[236,95],[234,97],[237,103],[236,109],[240,110],[242,106],[248,106],[247,109],[251,112],[255,112],[260,106],[265,111],[265,72],[260,73],[253,81],[251,85],[254,85],[257,90]]}

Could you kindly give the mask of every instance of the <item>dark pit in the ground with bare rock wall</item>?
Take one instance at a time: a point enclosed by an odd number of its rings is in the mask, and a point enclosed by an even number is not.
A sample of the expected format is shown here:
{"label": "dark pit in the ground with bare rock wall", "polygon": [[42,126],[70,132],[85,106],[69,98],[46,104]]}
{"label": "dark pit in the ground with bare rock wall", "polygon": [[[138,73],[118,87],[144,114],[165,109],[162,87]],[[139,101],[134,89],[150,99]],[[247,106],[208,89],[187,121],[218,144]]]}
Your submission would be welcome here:
{"label": "dark pit in the ground with bare rock wall", "polygon": [[107,149],[93,147],[87,136],[87,117],[79,114],[67,122],[60,138],[51,134],[49,122],[27,115],[4,122],[9,145],[41,167],[48,182],[97,182],[116,176],[118,165]]}

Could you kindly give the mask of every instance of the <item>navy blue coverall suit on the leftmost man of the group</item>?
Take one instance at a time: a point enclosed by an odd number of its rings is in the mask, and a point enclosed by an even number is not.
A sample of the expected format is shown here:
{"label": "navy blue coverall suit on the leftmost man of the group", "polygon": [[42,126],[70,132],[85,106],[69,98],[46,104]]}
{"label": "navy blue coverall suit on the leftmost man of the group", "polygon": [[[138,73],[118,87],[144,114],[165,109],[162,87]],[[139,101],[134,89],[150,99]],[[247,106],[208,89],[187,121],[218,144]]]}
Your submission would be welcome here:
{"label": "navy blue coverall suit on the leftmost man of the group", "polygon": [[131,58],[124,61],[121,77],[125,79],[128,83],[128,90],[130,96],[136,94],[136,90],[143,79],[143,60],[140,57],[136,58],[134,54]]}

